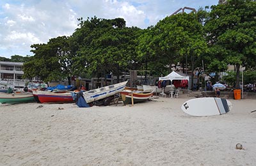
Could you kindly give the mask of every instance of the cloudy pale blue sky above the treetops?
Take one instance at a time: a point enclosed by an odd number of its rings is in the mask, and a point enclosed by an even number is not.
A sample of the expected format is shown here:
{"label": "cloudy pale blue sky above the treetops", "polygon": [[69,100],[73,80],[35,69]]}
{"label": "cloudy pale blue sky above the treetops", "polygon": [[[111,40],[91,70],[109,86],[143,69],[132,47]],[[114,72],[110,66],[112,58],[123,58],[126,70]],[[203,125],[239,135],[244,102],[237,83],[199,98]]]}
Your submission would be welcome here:
{"label": "cloudy pale blue sky above the treetops", "polygon": [[127,27],[145,29],[179,8],[217,4],[218,0],[1,0],[0,57],[33,56],[31,45],[72,35],[81,17],[123,18]]}

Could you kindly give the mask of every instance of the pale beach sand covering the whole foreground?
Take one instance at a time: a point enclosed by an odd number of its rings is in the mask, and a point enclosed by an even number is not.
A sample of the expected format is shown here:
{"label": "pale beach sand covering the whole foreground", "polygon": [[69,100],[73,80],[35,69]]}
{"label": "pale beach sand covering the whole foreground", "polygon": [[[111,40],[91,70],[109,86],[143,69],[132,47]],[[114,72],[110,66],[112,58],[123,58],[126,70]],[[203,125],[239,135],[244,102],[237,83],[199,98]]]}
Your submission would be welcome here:
{"label": "pale beach sand covering the whole foreground", "polygon": [[186,100],[1,105],[0,165],[256,165],[256,100],[209,117],[185,114]]}

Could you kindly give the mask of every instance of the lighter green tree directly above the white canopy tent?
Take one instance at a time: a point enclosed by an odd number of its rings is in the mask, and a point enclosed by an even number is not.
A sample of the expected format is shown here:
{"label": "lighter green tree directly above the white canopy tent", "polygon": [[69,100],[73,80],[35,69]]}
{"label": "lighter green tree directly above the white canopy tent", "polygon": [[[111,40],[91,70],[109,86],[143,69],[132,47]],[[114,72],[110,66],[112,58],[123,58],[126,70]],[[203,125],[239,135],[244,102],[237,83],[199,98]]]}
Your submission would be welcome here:
{"label": "lighter green tree directly above the white canopy tent", "polygon": [[154,64],[162,65],[159,68],[162,73],[166,70],[170,72],[172,64],[178,62],[188,62],[193,71],[198,58],[207,50],[203,26],[196,13],[179,13],[166,17],[150,31],[152,32],[141,37],[138,52],[143,59],[155,58]]}

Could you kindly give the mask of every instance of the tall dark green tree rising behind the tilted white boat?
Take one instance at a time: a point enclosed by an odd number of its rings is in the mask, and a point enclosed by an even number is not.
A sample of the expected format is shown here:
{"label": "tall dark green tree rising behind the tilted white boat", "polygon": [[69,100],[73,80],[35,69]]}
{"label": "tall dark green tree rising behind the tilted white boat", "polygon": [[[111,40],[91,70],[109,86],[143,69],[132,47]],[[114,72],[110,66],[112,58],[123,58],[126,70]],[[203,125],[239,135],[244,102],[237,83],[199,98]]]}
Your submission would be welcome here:
{"label": "tall dark green tree rising behind the tilted white boat", "polygon": [[[77,70],[92,73],[93,77],[119,75],[129,68],[136,45],[137,27],[125,27],[124,19],[80,19],[80,28],[72,35],[79,44]],[[118,77],[119,78],[119,77]]]}

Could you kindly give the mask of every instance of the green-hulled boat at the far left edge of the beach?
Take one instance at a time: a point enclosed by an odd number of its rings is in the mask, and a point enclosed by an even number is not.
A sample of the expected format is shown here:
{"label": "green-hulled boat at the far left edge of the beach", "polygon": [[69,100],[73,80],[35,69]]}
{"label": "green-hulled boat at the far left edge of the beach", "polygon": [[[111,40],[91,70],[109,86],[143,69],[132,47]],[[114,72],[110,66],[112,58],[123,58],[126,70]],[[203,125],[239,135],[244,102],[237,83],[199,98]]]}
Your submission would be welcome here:
{"label": "green-hulled boat at the far left edge of the beach", "polygon": [[34,102],[34,96],[31,93],[0,93],[0,103],[28,103]]}

